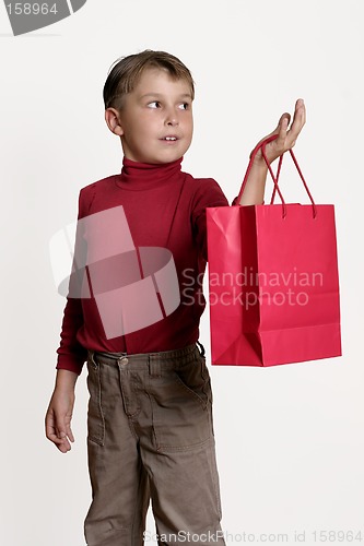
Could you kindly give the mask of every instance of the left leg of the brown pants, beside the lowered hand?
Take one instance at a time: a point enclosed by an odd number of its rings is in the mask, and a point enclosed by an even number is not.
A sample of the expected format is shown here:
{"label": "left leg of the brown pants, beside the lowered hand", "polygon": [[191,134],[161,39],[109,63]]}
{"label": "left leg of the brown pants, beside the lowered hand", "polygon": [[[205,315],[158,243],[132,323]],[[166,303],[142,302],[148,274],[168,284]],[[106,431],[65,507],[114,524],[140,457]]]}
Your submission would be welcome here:
{"label": "left leg of the brown pants, beside the lowered hand", "polygon": [[87,363],[87,456],[92,503],[89,546],[141,546],[150,490],[138,438],[129,426],[118,368]]}

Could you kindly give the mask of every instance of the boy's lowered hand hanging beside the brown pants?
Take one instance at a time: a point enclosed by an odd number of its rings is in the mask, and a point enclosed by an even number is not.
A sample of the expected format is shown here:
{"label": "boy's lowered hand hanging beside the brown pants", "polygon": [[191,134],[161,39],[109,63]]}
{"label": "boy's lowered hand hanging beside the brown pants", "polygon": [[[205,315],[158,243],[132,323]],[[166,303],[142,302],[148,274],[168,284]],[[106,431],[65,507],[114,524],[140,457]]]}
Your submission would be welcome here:
{"label": "boy's lowered hand hanging beside the brown pants", "polygon": [[46,413],[46,437],[55,443],[62,453],[70,451],[74,442],[71,430],[71,418],[74,405],[74,391],[56,387]]}

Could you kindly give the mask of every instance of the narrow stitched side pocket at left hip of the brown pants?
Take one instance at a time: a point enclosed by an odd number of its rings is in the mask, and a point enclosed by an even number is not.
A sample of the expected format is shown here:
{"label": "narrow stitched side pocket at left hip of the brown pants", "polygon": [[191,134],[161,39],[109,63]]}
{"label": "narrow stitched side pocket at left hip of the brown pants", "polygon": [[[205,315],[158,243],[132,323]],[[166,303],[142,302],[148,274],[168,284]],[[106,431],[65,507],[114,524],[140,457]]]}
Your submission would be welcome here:
{"label": "narrow stitched side pocket at left hip of the brown pants", "polygon": [[87,440],[104,446],[105,418],[102,406],[102,370],[94,357],[87,360]]}

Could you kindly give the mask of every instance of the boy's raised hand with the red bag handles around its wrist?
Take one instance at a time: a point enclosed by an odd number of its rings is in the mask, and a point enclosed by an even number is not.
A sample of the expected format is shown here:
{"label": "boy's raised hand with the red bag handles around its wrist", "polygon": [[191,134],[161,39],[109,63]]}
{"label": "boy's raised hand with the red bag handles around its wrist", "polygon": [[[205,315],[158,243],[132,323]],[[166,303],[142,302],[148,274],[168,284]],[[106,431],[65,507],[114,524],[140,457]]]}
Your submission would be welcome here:
{"label": "boy's raised hand with the red bag handles around its wrist", "polygon": [[[268,139],[268,136],[271,136],[273,134],[279,135],[278,139],[270,142],[266,146],[266,155],[269,163],[272,163],[280,155],[282,155],[284,152],[287,152],[287,150],[291,150],[295,145],[297,136],[300,135],[301,130],[306,121],[306,108],[302,98],[298,98],[296,100],[293,121],[291,128],[289,129],[290,121],[291,121],[290,114],[287,112],[283,114],[274,131],[272,131],[270,134],[268,134],[267,136],[265,136],[259,141],[260,143],[263,140]],[[255,157],[255,163],[260,166],[263,165],[266,166],[266,162],[265,158],[262,157],[261,150],[258,151]]]}

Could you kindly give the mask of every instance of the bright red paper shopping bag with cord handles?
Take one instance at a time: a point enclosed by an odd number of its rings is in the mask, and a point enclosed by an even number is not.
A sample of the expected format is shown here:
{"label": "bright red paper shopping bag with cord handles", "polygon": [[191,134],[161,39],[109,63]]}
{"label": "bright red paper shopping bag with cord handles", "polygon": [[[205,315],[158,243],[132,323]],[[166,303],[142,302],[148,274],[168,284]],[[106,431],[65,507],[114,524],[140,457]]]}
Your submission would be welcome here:
{"label": "bright red paper shopping bag with cord handles", "polygon": [[[287,204],[274,182],[269,205],[207,209],[213,365],[274,366],[341,355],[334,209]],[[281,203],[273,204],[274,193]]]}

